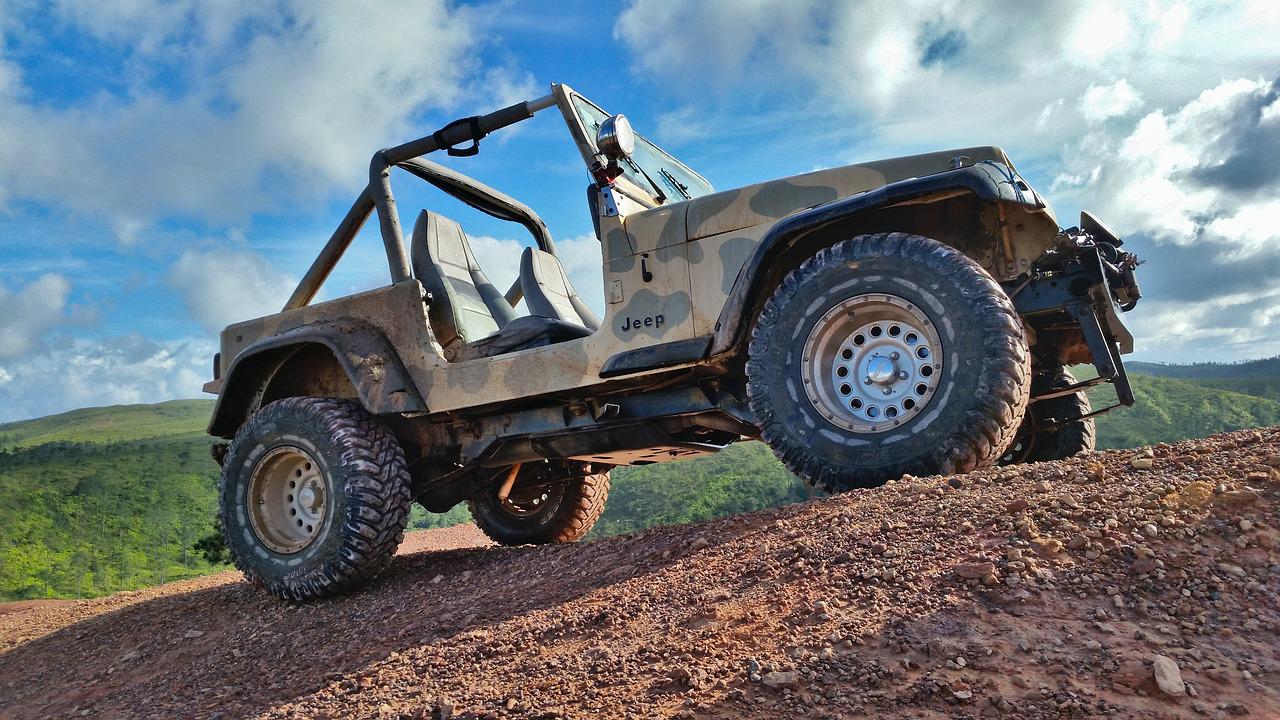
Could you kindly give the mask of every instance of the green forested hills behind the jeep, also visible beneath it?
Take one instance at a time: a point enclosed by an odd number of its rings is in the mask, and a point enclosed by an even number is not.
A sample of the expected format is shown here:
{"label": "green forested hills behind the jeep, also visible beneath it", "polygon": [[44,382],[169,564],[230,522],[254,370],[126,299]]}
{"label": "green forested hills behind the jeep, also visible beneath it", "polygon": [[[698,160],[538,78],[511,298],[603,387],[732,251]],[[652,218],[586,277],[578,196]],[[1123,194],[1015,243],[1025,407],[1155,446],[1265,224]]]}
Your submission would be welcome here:
{"label": "green forested hills behind the jeep, also visible beneath it", "polygon": [[[1138,405],[1098,419],[1101,447],[1280,424],[1280,360],[1134,364]],[[1094,407],[1114,401],[1092,393]],[[0,600],[87,597],[219,568],[218,468],[204,434],[211,402],[77,410],[0,425]],[[760,443],[667,465],[620,468],[595,536],[795,502],[809,488]],[[465,507],[415,527],[467,519]]]}

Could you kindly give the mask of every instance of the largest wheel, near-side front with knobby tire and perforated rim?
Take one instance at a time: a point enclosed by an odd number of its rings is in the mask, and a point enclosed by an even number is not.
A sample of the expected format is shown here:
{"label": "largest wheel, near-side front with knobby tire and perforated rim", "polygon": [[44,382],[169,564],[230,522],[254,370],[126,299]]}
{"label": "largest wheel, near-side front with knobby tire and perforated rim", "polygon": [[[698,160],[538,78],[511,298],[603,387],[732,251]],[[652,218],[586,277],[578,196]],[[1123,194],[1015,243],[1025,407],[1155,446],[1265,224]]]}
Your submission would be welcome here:
{"label": "largest wheel, near-side front with knobby tire and perforated rim", "polygon": [[[842,328],[852,333],[844,341]],[[787,274],[751,332],[746,374],[764,442],[832,492],[993,464],[1030,389],[1021,319],[1004,290],[960,251],[905,233],[845,240]]]}

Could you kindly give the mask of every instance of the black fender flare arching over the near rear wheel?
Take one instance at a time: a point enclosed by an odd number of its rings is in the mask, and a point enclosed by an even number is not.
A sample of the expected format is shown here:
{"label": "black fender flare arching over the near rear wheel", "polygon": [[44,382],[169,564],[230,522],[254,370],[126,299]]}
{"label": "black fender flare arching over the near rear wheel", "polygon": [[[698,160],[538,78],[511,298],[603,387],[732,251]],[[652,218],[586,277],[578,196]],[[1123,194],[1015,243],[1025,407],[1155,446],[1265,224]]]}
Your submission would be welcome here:
{"label": "black fender flare arching over the near rear wheel", "polygon": [[241,351],[223,377],[209,434],[233,437],[256,410],[278,370],[300,350],[315,346],[333,355],[360,402],[374,415],[426,409],[380,329],[360,320],[325,320],[265,337]]}

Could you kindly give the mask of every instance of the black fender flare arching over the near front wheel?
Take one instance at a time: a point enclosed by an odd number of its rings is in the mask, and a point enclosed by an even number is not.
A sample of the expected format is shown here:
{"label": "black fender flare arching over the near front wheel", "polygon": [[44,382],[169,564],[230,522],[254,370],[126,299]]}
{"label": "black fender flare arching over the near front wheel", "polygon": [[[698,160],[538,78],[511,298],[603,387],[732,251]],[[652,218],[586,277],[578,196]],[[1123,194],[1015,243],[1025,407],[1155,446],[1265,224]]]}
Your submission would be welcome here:
{"label": "black fender flare arching over the near front wheel", "polygon": [[[750,329],[749,318],[763,302],[759,293],[771,273],[780,272],[776,261],[801,238],[868,213],[929,196],[954,197],[972,195],[980,202],[1020,202],[1043,208],[1043,201],[1016,174],[998,163],[978,163],[955,170],[909,178],[876,190],[832,200],[801,210],[774,224],[754,254],[737,273],[724,307],[716,322],[710,356],[741,347]],[[817,250],[817,249],[815,249]],[[781,269],[790,270],[790,268]]]}

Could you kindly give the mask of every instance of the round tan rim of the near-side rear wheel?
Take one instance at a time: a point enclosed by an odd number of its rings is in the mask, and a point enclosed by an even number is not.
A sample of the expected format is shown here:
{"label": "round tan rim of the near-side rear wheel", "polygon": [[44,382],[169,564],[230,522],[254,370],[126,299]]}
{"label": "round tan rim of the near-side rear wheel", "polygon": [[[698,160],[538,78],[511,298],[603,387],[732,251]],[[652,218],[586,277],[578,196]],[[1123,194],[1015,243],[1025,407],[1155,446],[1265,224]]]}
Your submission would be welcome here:
{"label": "round tan rim of the near-side rear wheel", "polygon": [[282,446],[256,465],[248,483],[250,525],[266,547],[301,552],[320,534],[328,491],[320,464],[307,451]]}

